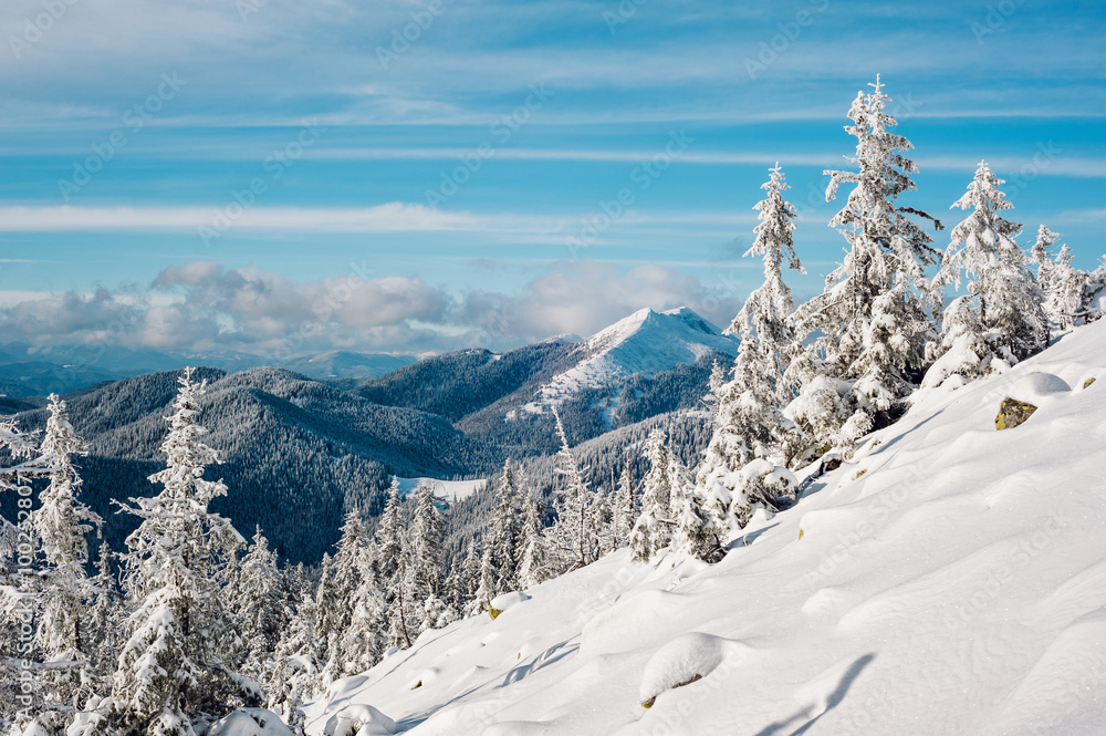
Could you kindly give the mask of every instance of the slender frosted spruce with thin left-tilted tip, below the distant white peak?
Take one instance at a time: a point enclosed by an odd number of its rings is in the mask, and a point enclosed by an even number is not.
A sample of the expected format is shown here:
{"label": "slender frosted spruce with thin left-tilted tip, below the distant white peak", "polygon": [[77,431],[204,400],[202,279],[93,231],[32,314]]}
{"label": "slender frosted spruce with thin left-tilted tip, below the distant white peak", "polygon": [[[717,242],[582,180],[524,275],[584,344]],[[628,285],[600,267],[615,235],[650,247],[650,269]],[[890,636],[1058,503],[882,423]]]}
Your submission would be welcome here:
{"label": "slender frosted spruce with thin left-tilted tip, below the distant white peak", "polygon": [[564,478],[564,487],[555,505],[556,522],[550,528],[550,564],[560,574],[597,560],[599,540],[595,535],[592,515],[592,491],[584,483],[584,475],[568,446],[568,437],[556,407],[553,407],[553,418],[561,439],[554,467]]}

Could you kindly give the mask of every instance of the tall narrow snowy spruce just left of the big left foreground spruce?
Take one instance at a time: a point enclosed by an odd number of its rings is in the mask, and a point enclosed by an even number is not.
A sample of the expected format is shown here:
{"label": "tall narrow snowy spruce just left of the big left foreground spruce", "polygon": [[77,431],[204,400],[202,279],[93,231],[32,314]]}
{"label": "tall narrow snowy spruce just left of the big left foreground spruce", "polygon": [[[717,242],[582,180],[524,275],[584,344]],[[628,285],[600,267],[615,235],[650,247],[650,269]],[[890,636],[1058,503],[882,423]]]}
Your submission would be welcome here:
{"label": "tall narrow snowy spruce just left of the big left foreground spruce", "polygon": [[103,686],[109,673],[92,666],[95,643],[87,621],[95,597],[87,573],[87,536],[98,531],[103,520],[77,498],[82,481],[73,455],[87,450],[70,423],[65,402],[51,394],[49,410],[39,452],[53,470],[39,494],[39,508],[31,514],[46,564],[36,636],[48,660],[43,667],[49,699],[70,704],[83,685],[106,694]]}

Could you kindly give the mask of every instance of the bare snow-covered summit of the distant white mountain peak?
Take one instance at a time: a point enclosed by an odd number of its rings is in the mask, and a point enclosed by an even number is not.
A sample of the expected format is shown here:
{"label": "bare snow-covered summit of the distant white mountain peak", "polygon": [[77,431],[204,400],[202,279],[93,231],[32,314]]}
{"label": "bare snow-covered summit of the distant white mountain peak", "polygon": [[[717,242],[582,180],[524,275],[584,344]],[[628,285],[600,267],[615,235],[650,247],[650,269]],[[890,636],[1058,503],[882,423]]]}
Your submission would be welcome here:
{"label": "bare snow-covered summit of the distant white mountain peak", "polygon": [[737,355],[738,341],[687,307],[641,309],[580,343],[582,359],[559,373],[525,408],[541,412],[585,388],[611,385],[635,373],[653,375],[711,352]]}

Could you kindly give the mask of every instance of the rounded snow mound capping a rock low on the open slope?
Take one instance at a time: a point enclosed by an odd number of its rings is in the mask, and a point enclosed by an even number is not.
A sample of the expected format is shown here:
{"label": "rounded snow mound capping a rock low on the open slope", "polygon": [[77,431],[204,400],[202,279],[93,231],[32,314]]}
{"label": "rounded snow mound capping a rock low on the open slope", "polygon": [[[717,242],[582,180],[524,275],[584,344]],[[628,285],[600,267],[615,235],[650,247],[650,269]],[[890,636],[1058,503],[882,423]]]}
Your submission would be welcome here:
{"label": "rounded snow mound capping a rock low on the open slope", "polygon": [[665,691],[702,680],[724,662],[740,663],[748,649],[738,642],[699,632],[684,634],[661,646],[641,673],[638,699],[651,707]]}

